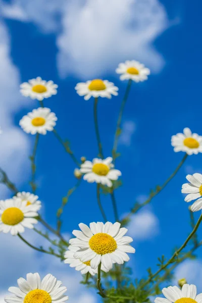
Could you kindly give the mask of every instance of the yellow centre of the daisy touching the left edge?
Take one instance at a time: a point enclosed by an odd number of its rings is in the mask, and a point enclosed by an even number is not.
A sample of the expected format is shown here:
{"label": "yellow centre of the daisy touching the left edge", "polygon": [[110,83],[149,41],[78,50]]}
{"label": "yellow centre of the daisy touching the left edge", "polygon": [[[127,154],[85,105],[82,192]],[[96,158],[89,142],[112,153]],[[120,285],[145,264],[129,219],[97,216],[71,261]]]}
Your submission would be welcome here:
{"label": "yellow centre of the daisy touching the left edge", "polygon": [[11,207],[2,214],[2,222],[7,225],[17,225],[24,219],[23,212],[17,207]]}

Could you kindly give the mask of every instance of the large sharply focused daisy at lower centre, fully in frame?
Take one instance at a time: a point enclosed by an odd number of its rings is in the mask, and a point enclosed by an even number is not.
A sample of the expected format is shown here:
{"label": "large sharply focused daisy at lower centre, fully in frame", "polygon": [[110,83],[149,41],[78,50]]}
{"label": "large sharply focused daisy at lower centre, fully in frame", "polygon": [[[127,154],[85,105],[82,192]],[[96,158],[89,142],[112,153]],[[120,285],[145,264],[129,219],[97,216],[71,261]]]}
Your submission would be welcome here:
{"label": "large sharply focused daisy at lower centre, fully in frame", "polygon": [[106,272],[112,269],[113,263],[123,264],[129,261],[127,252],[135,252],[129,244],[133,241],[131,237],[124,236],[128,231],[125,227],[120,228],[120,223],[116,222],[92,222],[90,228],[80,223],[79,230],[73,230],[74,239],[69,242],[72,246],[80,249],[74,253],[74,258],[81,262],[90,261],[90,266],[96,269],[100,262]]}

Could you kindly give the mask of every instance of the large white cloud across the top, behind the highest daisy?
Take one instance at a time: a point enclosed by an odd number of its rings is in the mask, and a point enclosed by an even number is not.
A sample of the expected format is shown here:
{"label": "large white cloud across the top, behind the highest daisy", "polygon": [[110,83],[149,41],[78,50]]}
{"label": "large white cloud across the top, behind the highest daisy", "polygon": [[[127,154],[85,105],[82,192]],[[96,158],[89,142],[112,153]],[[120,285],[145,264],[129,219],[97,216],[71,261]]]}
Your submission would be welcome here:
{"label": "large white cloud across the top, behind the highest daisy", "polygon": [[43,32],[57,33],[62,77],[114,74],[127,59],[143,62],[152,72],[164,65],[153,44],[169,26],[158,0],[13,0],[11,4],[3,1],[1,7],[6,18],[33,22]]}

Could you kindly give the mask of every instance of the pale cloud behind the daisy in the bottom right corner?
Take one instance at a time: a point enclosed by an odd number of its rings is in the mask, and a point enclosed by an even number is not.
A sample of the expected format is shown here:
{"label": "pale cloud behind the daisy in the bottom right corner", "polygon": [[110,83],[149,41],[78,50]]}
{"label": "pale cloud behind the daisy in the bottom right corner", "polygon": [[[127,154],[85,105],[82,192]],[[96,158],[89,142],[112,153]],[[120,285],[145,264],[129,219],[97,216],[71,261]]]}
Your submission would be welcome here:
{"label": "pale cloud behind the daisy in the bottom right corner", "polygon": [[174,273],[173,285],[185,278],[188,284],[195,284],[197,293],[202,292],[202,260],[187,260],[180,264]]}

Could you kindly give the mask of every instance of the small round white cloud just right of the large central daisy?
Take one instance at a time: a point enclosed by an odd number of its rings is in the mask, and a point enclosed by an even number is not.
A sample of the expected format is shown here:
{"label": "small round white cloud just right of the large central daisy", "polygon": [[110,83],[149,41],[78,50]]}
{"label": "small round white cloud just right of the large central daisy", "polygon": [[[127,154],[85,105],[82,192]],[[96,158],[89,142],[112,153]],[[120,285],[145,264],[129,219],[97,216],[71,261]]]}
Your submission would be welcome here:
{"label": "small round white cloud just right of the large central daisy", "polygon": [[159,233],[159,220],[147,209],[132,215],[127,228],[128,235],[134,240],[150,240]]}

